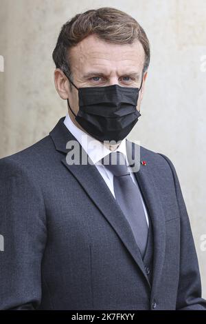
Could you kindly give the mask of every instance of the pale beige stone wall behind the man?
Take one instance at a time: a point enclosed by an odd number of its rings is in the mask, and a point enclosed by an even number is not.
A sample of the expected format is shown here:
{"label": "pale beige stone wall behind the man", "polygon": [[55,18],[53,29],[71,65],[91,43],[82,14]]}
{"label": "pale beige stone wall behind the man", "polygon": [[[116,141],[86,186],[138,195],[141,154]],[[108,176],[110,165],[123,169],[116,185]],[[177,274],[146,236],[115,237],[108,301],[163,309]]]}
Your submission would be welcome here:
{"label": "pale beige stone wall behind the man", "polygon": [[206,297],[205,0],[0,0],[0,156],[35,143],[65,116],[66,101],[54,88],[52,50],[65,21],[102,6],[132,14],[150,39],[146,94],[129,138],[167,155],[176,167]]}

